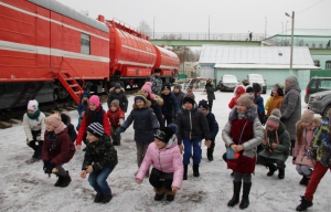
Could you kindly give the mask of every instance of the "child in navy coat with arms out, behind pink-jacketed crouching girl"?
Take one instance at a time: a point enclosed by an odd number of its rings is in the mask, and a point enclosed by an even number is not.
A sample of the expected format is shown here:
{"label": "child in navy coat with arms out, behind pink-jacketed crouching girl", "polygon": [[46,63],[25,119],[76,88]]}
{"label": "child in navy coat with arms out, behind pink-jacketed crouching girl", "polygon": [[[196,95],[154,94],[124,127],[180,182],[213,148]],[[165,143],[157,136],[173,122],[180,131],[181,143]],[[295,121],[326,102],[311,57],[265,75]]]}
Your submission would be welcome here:
{"label": "child in navy coat with arms out, behind pink-jacketed crouching girl", "polygon": [[121,125],[118,134],[124,132],[134,123],[135,141],[137,146],[137,163],[140,167],[149,144],[154,140],[154,132],[160,128],[158,118],[150,102],[142,94],[136,94],[134,109]]}

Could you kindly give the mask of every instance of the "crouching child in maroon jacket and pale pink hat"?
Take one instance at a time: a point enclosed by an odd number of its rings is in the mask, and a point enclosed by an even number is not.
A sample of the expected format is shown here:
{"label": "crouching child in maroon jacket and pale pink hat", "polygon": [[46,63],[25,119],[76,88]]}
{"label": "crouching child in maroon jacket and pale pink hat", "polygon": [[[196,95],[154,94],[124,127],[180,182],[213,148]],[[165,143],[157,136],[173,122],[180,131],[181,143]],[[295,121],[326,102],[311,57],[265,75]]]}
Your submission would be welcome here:
{"label": "crouching child in maroon jacket and pale pink hat", "polygon": [[[46,131],[43,144],[43,170],[51,176],[55,173],[57,181],[55,187],[67,187],[72,179],[63,165],[68,162],[76,151],[74,144],[67,132],[66,126],[62,123],[60,114],[53,114],[45,120]],[[55,169],[54,169],[55,168]]]}

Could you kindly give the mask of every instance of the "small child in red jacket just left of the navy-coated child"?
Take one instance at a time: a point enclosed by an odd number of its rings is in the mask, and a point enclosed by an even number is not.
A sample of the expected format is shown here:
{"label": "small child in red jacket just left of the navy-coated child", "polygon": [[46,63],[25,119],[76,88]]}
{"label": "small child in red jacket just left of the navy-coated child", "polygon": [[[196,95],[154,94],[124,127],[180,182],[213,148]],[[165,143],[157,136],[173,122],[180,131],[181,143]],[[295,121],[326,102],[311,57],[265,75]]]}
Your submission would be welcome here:
{"label": "small child in red jacket just left of the navy-coated child", "polygon": [[110,123],[111,139],[114,146],[120,146],[120,134],[118,134],[120,126],[124,124],[125,114],[119,107],[119,100],[114,99],[109,104],[107,116]]}

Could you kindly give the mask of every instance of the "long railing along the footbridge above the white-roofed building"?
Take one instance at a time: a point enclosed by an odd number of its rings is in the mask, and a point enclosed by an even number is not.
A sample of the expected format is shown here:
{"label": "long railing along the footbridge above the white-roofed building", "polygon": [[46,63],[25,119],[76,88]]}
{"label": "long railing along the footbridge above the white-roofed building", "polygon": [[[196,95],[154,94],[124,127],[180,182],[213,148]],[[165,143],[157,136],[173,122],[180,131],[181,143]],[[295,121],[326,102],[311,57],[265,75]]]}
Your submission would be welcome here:
{"label": "long railing along the footbridge above the white-roofed building", "polygon": [[[267,36],[268,38],[268,36]],[[156,32],[151,40],[211,40],[211,41],[249,41],[248,33],[201,33],[201,32]],[[265,34],[254,34],[252,41],[265,40]]]}

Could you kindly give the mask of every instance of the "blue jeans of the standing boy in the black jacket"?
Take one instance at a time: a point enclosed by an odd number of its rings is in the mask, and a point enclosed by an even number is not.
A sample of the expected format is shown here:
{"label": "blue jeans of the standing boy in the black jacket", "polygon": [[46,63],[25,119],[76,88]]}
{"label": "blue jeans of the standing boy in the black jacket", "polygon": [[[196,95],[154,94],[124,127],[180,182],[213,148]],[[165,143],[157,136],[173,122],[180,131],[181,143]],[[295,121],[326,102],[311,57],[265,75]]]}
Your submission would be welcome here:
{"label": "blue jeans of the standing boy in the black jacket", "polygon": [[201,161],[201,139],[189,138],[183,139],[184,144],[184,157],[183,165],[190,163],[190,158],[192,157],[192,146],[193,146],[193,165],[200,165]]}

